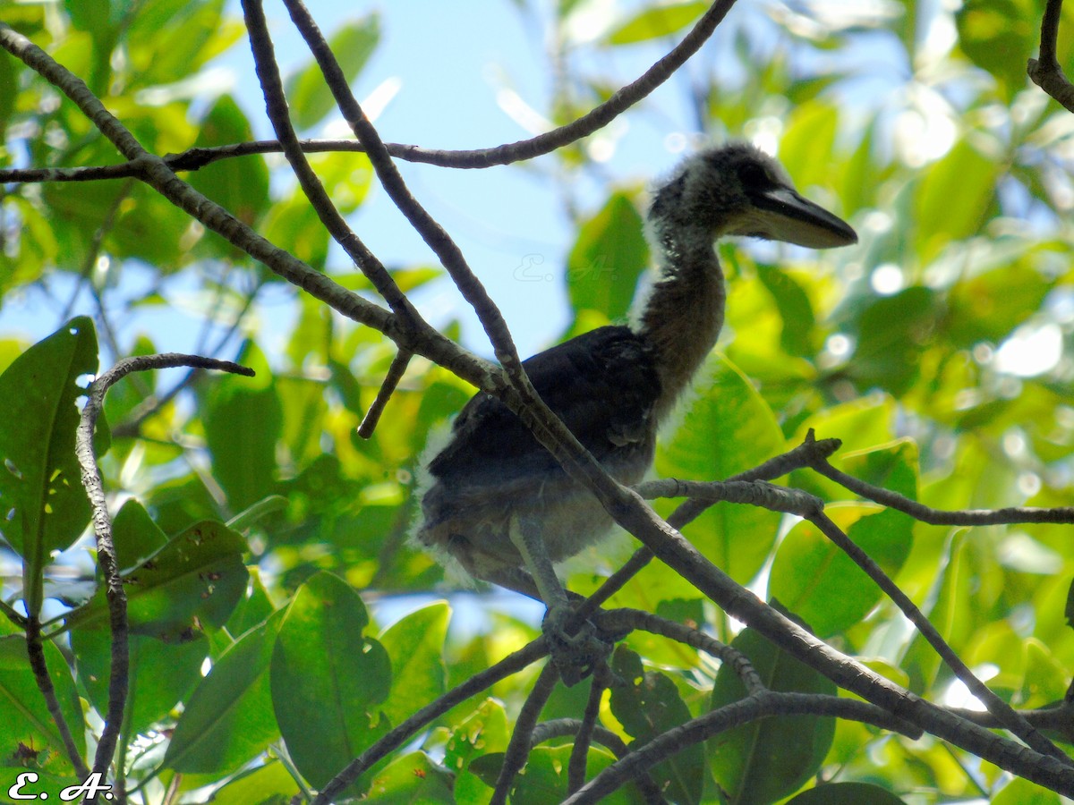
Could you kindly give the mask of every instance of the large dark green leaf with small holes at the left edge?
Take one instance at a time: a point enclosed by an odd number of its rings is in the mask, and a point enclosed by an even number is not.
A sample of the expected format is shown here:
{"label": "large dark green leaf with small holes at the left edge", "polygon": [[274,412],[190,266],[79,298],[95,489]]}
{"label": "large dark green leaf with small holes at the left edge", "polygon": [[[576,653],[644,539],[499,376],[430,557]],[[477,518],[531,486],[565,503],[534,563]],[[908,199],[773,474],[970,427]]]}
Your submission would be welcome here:
{"label": "large dark green leaf with small holes at the left edge", "polygon": [[72,319],[19,355],[0,375],[0,533],[23,557],[24,592],[41,608],[48,555],[66,548],[89,522],[89,501],[74,454],[77,380],[97,371],[89,319]]}

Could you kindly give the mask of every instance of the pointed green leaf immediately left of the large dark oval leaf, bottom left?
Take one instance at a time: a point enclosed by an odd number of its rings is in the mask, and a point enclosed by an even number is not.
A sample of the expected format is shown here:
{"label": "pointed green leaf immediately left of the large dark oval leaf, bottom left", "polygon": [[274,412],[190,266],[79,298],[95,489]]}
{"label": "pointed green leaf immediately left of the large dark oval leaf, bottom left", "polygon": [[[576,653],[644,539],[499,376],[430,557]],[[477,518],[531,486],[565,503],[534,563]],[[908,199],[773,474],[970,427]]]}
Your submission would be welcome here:
{"label": "pointed green leaf immediately left of the large dark oval leaf, bottom left", "polygon": [[165,766],[191,774],[232,772],[279,737],[268,664],[281,619],[274,615],[247,632],[213,665],[186,702]]}

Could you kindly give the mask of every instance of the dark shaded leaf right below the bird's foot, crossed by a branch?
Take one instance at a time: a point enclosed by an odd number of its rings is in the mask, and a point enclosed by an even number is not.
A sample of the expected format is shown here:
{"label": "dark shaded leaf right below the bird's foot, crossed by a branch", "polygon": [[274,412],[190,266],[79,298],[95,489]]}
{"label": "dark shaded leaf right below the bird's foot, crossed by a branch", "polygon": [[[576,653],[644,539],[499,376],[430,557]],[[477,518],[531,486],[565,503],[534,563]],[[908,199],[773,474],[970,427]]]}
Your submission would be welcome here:
{"label": "dark shaded leaf right below the bird's foot, crossed by a branch", "polygon": [[[626,646],[615,647],[612,672],[623,685],[611,688],[611,712],[640,747],[657,735],[690,720],[691,714],[674,683],[658,671],[644,671],[641,657]],[[666,782],[666,793],[676,802],[697,803],[701,799],[705,756],[699,744],[686,746],[651,770]],[[662,786],[663,788],[663,786]]]}

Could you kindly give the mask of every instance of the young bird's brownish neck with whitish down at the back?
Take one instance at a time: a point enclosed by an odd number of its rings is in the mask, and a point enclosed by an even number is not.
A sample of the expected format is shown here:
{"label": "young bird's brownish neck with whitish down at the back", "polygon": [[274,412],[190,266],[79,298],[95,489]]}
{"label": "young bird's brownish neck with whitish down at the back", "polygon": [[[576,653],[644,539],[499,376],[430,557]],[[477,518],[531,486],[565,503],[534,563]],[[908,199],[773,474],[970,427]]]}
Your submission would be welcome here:
{"label": "young bird's brownish neck with whitish down at the back", "polygon": [[700,228],[650,233],[659,276],[645,303],[638,332],[656,351],[663,419],[690,384],[724,324],[724,274],[713,233]]}

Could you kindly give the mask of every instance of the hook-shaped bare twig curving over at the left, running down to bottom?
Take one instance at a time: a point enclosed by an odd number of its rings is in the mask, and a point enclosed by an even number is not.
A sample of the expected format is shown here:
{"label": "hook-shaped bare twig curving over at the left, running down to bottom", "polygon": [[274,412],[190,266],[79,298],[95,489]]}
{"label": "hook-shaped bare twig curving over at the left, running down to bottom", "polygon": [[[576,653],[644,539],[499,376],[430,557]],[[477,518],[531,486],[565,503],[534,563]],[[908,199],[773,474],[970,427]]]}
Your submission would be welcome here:
{"label": "hook-shaped bare twig curving over at the left, running down to bottom", "polygon": [[97,418],[104,405],[108,389],[132,371],[162,369],[173,366],[198,366],[205,369],[220,369],[237,375],[252,376],[253,371],[230,361],[216,361],[200,355],[164,353],[160,355],[139,355],[119,361],[115,366],[90,383],[86,392],[86,406],[82,409],[75,436],[75,454],[82,471],[82,484],[93,512],[93,536],[97,539],[97,558],[104,576],[105,598],[108,603],[108,624],[112,630],[112,665],[108,676],[108,708],[104,717],[104,730],[97,745],[93,772],[104,775],[116,751],[116,742],[122,726],[124,708],[127,702],[129,673],[127,594],[119,576],[116,548],[112,541],[112,518],[104,497],[104,482],[101,480],[93,454],[93,430]]}

